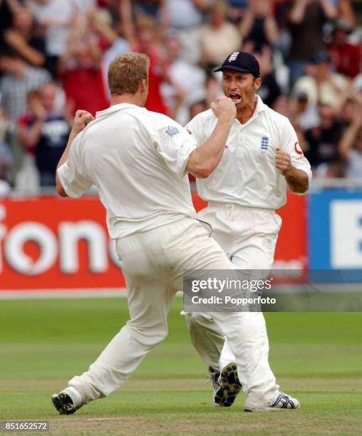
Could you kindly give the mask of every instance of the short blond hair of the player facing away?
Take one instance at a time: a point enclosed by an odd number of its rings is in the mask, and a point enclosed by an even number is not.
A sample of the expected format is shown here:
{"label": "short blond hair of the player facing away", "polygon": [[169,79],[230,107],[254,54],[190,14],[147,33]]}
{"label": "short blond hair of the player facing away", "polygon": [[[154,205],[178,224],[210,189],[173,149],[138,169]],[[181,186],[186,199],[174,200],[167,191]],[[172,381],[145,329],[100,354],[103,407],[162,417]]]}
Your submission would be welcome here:
{"label": "short blond hair of the player facing away", "polygon": [[112,95],[135,94],[143,79],[148,81],[150,58],[143,53],[122,53],[108,68],[108,87]]}

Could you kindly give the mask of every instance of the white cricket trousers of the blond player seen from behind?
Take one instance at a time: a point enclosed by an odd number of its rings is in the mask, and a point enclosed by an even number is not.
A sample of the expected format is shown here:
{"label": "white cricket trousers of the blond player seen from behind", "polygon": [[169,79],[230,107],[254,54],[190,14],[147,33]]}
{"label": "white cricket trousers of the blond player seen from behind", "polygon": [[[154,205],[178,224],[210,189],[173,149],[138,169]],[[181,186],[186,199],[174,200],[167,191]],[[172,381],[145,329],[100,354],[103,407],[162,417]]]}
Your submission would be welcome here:
{"label": "white cricket trousers of the blond player seen from behind", "polygon": [[[185,217],[172,224],[118,239],[118,256],[128,291],[130,321],[110,341],[86,373],[69,381],[82,395],[83,404],[103,398],[120,388],[145,355],[167,336],[167,311],[172,297],[182,289],[185,269],[234,269],[217,242],[195,219]],[[250,313],[212,313],[229,341],[242,383],[249,386],[259,367],[255,347],[255,323]],[[272,382],[273,375],[269,374]],[[269,385],[269,397],[277,388]]]}

